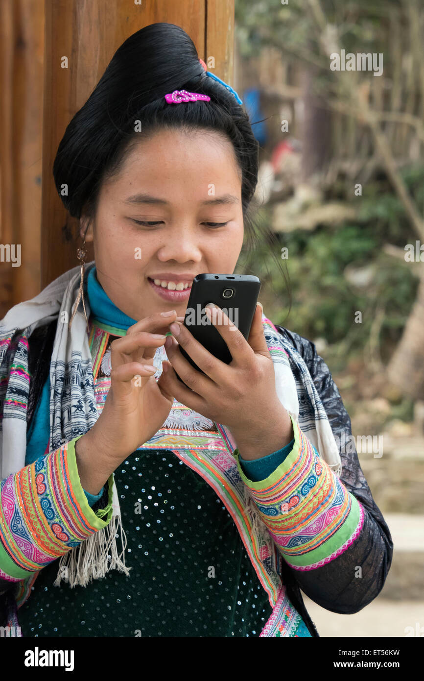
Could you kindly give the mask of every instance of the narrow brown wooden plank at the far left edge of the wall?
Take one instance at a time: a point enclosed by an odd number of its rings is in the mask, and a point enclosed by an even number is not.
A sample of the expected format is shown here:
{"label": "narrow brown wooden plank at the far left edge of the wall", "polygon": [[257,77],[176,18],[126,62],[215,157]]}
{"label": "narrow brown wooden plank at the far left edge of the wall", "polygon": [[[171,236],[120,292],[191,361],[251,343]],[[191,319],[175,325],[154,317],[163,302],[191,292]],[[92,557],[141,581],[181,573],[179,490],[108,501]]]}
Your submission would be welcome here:
{"label": "narrow brown wooden plank at the far left edge of the wall", "polygon": [[[0,243],[4,248],[0,262],[1,319],[14,304],[39,292],[43,63],[44,3],[40,0],[2,0]],[[6,249],[10,247],[14,249],[7,253]]]}

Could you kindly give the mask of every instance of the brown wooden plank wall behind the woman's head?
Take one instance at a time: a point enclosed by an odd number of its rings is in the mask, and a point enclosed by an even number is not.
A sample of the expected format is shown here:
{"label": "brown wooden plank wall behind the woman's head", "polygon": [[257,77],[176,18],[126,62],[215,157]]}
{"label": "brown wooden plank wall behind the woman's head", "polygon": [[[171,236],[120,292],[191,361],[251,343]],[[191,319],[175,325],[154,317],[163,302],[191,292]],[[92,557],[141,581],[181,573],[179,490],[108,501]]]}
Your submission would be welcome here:
{"label": "brown wooden plank wall behind the woman's head", "polygon": [[199,57],[214,57],[209,70],[232,84],[234,0],[0,3],[0,241],[21,244],[20,267],[0,262],[0,318],[78,265],[78,221],[54,187],[56,149],[118,46],[159,21],[181,26]]}

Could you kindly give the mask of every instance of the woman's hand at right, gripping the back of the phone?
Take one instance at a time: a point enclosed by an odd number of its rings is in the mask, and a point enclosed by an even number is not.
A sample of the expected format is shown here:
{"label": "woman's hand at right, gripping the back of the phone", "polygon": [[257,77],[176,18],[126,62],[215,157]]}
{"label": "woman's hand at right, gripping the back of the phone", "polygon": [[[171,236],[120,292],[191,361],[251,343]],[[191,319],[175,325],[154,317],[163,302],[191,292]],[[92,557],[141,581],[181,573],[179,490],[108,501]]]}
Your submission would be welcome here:
{"label": "woman's hand at right, gripping the back of the phone", "polygon": [[[214,308],[210,319],[227,343],[233,358],[230,364],[215,358],[177,321],[169,330],[178,343],[168,336],[165,350],[170,364],[162,363],[159,381],[178,402],[227,426],[243,458],[271,454],[291,441],[293,426],[276,394],[274,364],[263,334],[261,306],[257,304],[248,340],[221,308]],[[178,345],[204,374],[182,356]]]}

